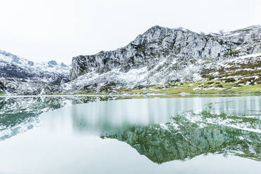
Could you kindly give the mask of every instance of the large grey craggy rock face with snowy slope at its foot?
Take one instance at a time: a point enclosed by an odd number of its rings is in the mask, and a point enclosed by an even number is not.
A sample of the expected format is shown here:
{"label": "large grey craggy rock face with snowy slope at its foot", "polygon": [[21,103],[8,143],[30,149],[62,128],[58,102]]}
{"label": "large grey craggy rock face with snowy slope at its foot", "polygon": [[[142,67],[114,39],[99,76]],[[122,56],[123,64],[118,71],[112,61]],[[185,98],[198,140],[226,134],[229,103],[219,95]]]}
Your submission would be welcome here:
{"label": "large grey craggy rock face with snowy slope at its foot", "polygon": [[83,88],[112,82],[148,85],[177,79],[194,80],[201,78],[201,67],[208,62],[260,51],[261,26],[222,35],[155,26],[116,51],[74,57],[70,79],[76,80],[69,86]]}

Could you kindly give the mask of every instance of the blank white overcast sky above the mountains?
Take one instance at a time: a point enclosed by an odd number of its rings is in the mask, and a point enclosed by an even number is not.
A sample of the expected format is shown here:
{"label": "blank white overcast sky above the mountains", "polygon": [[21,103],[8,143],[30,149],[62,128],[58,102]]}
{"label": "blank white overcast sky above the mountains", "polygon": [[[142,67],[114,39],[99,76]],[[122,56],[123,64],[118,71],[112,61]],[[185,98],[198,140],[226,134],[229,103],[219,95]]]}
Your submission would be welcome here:
{"label": "blank white overcast sky above the mountains", "polygon": [[0,0],[0,50],[69,64],[154,25],[205,33],[260,25],[260,9],[260,0]]}

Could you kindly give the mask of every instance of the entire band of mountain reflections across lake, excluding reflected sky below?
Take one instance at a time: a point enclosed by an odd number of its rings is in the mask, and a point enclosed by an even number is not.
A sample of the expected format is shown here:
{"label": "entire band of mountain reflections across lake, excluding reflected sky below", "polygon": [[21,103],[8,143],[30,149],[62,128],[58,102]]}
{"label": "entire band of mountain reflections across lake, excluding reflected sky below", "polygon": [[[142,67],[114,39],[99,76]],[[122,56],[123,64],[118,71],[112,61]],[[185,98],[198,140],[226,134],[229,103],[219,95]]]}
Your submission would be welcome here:
{"label": "entire band of mountain reflections across lake, excluding reflected sky below", "polygon": [[[208,153],[261,161],[258,96],[114,99],[123,98],[0,98],[0,140],[40,126],[45,134],[35,136],[43,139],[56,129],[72,141],[75,135],[84,138],[90,134],[116,139],[154,163],[184,161]],[[68,105],[72,106],[64,107]]]}

